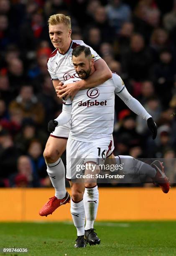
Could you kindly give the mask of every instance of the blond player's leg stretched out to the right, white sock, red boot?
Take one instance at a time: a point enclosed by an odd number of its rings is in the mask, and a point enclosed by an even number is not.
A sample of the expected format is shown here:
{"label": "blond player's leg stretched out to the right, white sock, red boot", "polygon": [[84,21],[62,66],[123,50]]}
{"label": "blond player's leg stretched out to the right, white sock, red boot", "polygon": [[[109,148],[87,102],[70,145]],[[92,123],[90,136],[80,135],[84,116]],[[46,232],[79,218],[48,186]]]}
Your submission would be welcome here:
{"label": "blond player's leg stretched out to the right, white sock, red boot", "polygon": [[164,193],[168,193],[170,183],[164,173],[164,166],[161,161],[153,161],[151,164],[146,164],[132,156],[115,156],[116,164],[124,164],[123,169],[126,174],[146,175],[153,180],[154,184],[158,184]]}

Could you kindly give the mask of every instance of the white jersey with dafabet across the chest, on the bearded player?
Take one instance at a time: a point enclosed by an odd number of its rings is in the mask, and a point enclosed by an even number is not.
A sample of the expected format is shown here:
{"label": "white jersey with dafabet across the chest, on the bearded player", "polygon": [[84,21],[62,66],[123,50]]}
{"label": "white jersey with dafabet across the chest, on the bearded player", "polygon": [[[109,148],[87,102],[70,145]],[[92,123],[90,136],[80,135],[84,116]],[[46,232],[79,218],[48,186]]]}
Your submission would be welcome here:
{"label": "white jersey with dafabet across the chest, on the bearded player", "polygon": [[[64,84],[79,81],[74,74]],[[69,136],[77,141],[90,142],[99,138],[111,138],[114,126],[115,93],[125,85],[117,74],[97,87],[79,91],[72,101],[71,129]],[[70,100],[65,102],[69,105]]]}

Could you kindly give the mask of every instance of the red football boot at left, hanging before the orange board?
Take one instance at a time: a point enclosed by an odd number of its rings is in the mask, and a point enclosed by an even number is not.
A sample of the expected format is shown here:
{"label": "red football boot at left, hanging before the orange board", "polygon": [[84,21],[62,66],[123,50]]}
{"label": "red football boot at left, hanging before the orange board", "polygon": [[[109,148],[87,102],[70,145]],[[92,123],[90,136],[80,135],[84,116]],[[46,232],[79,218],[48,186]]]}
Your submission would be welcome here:
{"label": "red football boot at left, hanging before the orange board", "polygon": [[63,199],[57,199],[55,196],[49,199],[50,200],[41,208],[39,215],[47,217],[47,215],[52,214],[59,206],[70,202],[70,195],[66,192],[66,196]]}

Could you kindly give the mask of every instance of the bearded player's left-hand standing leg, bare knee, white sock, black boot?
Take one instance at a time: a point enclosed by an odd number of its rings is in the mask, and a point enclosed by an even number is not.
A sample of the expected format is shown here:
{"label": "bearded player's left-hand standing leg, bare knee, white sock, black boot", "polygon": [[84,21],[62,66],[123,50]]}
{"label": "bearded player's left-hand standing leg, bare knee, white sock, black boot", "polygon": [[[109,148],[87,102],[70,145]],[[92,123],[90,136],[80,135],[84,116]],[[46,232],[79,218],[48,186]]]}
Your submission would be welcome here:
{"label": "bearded player's left-hand standing leg, bare knee, white sock, black boot", "polygon": [[75,248],[86,247],[84,239],[85,211],[83,203],[84,183],[70,182],[71,186],[71,216],[74,226],[77,228],[77,240]]}

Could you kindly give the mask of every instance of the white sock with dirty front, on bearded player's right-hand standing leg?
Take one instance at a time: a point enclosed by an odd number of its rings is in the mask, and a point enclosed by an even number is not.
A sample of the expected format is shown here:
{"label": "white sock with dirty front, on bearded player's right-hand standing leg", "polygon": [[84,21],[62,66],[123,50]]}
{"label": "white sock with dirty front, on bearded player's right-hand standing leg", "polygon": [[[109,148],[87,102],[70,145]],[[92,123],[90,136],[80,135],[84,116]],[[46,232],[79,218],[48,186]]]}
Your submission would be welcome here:
{"label": "white sock with dirty front, on bearded player's right-hand standing leg", "polygon": [[84,190],[84,209],[86,214],[85,230],[94,228],[94,220],[97,217],[99,192],[98,187],[86,188]]}

